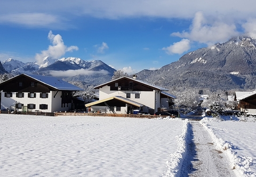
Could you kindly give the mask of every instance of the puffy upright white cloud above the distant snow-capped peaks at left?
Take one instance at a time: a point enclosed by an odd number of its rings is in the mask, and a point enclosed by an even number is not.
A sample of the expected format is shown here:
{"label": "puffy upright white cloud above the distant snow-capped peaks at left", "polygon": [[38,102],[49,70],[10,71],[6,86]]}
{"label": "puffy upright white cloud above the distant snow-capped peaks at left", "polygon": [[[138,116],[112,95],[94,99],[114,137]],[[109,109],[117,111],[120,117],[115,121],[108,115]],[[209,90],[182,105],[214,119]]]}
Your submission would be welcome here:
{"label": "puffy upright white cloud above the distant snow-capped peaks at left", "polygon": [[59,59],[66,52],[72,52],[74,50],[78,50],[77,46],[69,46],[64,45],[62,37],[58,35],[53,35],[52,31],[48,34],[48,39],[51,41],[52,45],[49,45],[47,50],[41,51],[41,53],[36,54],[36,60],[38,64],[42,63],[42,59],[44,57],[51,57],[52,59]]}

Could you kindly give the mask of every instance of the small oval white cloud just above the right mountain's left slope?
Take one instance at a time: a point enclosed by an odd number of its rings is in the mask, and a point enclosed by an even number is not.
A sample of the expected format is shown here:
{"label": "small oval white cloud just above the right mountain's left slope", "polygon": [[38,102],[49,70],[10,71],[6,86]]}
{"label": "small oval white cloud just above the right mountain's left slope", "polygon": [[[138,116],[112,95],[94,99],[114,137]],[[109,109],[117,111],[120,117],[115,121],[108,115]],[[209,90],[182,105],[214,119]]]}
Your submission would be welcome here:
{"label": "small oval white cloud just above the right mountain's left slope", "polygon": [[164,50],[167,54],[181,54],[183,52],[186,52],[190,49],[190,41],[188,39],[182,39],[180,42],[173,43],[173,45],[170,45],[169,47],[163,47],[162,50]]}

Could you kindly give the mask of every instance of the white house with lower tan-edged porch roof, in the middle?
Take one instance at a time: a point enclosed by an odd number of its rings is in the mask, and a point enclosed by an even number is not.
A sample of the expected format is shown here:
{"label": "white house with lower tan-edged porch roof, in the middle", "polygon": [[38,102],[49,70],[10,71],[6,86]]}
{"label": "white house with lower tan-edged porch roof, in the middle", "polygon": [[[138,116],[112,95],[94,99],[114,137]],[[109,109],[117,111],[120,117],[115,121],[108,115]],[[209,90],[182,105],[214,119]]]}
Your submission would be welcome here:
{"label": "white house with lower tan-edged porch roof, in the middle", "polygon": [[153,115],[161,108],[171,108],[175,99],[175,96],[167,93],[169,90],[163,87],[126,76],[94,89],[99,89],[99,100],[85,104],[89,111],[117,114],[141,112]]}

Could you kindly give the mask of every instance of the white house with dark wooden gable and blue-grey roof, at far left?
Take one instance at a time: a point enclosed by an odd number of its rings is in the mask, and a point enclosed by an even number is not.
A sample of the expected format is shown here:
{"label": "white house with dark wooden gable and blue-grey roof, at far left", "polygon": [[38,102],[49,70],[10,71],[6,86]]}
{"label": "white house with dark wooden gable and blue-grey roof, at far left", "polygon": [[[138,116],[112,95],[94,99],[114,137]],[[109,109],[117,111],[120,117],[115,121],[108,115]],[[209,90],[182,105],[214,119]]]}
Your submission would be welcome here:
{"label": "white house with dark wooden gable and blue-grey roof, at far left", "polygon": [[20,74],[0,83],[1,110],[68,111],[75,109],[73,95],[83,89],[61,79]]}

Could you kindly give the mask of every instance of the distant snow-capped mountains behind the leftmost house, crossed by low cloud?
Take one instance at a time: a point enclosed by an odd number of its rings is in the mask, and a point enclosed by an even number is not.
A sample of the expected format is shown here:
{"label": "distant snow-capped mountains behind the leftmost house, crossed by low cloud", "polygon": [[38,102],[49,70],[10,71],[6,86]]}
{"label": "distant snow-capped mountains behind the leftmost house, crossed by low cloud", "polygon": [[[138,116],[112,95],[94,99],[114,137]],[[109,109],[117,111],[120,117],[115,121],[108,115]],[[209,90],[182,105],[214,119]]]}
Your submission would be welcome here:
{"label": "distant snow-capped mountains behind the leftmost house, crossed by low cloud", "polygon": [[2,66],[12,75],[25,73],[55,76],[67,82],[79,81],[86,85],[99,85],[110,81],[116,71],[100,60],[85,61],[74,57],[58,60],[45,57],[40,63],[23,63],[18,60],[7,59],[2,62]]}

